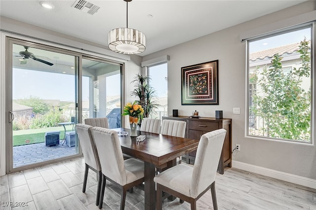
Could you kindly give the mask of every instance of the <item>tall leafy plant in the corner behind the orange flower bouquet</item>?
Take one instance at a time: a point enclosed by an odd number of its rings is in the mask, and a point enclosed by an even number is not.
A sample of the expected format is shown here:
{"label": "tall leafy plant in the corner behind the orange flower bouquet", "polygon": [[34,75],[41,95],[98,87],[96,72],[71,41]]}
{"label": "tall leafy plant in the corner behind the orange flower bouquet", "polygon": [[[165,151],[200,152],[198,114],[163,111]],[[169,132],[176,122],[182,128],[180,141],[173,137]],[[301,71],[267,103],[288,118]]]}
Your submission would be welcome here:
{"label": "tall leafy plant in the corner behind the orange flower bouquet", "polygon": [[138,97],[136,103],[144,109],[144,118],[148,118],[157,108],[155,98],[157,97],[156,90],[150,85],[151,78],[137,74],[131,83],[134,83],[135,89],[131,92],[131,96]]}

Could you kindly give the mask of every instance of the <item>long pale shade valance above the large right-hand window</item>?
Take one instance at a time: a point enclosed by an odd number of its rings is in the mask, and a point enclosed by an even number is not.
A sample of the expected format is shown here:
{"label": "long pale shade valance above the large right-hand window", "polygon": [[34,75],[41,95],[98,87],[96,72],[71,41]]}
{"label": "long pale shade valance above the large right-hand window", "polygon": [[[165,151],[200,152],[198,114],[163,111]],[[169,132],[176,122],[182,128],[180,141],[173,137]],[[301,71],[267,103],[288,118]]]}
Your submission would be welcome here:
{"label": "long pale shade valance above the large right-hand window", "polygon": [[249,31],[245,31],[239,35],[240,41],[244,41],[256,36],[264,35],[267,33],[271,33],[274,31],[278,31],[281,29],[285,29],[288,27],[296,26],[303,23],[308,23],[316,20],[316,10],[307,12],[298,16],[294,16],[285,20],[277,21],[275,23],[261,26],[258,28],[251,29]]}

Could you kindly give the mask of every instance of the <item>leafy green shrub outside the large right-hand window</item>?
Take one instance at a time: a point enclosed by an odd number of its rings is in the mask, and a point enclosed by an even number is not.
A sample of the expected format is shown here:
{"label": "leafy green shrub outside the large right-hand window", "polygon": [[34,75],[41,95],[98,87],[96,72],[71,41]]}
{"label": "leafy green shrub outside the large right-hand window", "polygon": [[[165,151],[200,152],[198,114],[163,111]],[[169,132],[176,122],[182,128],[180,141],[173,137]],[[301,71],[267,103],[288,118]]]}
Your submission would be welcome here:
{"label": "leafy green shrub outside the large right-hand window", "polygon": [[[251,76],[257,84],[252,113],[265,121],[265,136],[310,141],[311,134],[311,89],[302,87],[303,78],[309,78],[311,57],[309,42],[304,39],[298,52],[301,67],[288,74],[282,70],[282,57],[274,55],[268,69],[260,74],[258,68]],[[260,92],[259,92],[260,91]]]}

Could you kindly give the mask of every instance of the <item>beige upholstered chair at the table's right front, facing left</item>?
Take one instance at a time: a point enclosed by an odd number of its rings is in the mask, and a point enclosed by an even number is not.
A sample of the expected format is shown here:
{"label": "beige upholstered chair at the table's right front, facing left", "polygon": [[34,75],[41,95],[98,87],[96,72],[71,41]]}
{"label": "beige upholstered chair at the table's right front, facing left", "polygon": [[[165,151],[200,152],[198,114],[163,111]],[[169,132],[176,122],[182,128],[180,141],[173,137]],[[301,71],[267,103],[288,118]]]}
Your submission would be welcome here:
{"label": "beige upholstered chair at the table's right front, facing left", "polygon": [[181,203],[183,200],[189,202],[191,210],[196,210],[197,199],[208,189],[211,189],[213,209],[217,210],[215,176],[225,135],[225,129],[218,129],[201,136],[193,168],[179,164],[155,176],[157,210],[162,209],[162,191],[180,198]]}

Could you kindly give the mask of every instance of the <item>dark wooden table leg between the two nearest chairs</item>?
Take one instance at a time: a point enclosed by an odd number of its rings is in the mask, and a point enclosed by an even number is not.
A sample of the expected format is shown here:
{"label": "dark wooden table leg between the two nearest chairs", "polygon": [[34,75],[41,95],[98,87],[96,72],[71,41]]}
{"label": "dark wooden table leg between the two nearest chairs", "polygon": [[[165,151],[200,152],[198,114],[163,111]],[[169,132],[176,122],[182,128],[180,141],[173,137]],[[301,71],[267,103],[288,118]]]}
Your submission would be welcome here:
{"label": "dark wooden table leg between the two nearest chairs", "polygon": [[155,165],[144,162],[145,178],[145,210],[156,210],[156,175]]}

